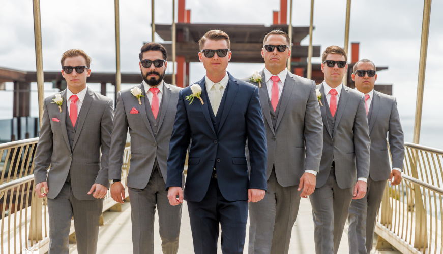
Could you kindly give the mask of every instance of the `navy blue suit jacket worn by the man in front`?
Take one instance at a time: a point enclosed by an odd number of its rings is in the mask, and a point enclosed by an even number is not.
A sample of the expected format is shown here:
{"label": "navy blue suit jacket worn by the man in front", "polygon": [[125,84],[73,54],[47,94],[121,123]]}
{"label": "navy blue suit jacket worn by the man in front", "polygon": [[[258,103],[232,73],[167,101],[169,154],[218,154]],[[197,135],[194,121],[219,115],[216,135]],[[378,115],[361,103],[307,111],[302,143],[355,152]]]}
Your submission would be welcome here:
{"label": "navy blue suit jacket worn by the man in front", "polygon": [[[216,131],[211,121],[205,78],[196,84],[202,88],[200,100],[189,104],[185,97],[190,87],[180,91],[177,113],[169,143],[166,189],[182,186],[186,151],[192,139],[188,160],[184,198],[201,201],[214,167],[223,197],[228,201],[248,199],[248,189],[266,190],[266,134],[258,97],[258,88],[235,79],[230,74],[225,90],[221,119]],[[251,172],[245,158],[248,139]]]}

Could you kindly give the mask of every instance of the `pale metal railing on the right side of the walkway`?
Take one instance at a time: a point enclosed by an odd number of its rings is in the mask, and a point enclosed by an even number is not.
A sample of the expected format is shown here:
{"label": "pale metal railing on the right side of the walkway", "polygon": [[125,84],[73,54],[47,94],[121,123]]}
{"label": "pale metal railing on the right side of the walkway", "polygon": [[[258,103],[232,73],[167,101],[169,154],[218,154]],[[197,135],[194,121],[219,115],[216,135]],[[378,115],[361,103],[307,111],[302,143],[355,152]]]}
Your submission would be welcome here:
{"label": "pale metal railing on the right side of the walkway", "polygon": [[443,253],[443,150],[405,143],[400,185],[387,184],[375,232],[402,253]]}

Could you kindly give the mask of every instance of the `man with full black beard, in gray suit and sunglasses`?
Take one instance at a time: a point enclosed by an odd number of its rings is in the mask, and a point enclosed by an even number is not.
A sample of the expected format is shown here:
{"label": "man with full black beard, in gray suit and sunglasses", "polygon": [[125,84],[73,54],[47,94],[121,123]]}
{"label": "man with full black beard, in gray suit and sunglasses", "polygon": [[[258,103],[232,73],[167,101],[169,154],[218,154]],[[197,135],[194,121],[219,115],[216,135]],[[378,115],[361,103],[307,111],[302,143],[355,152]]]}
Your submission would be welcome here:
{"label": "man with full black beard, in gray suit and sunglasses", "polygon": [[154,253],[156,206],[163,253],[175,254],[179,249],[182,206],[169,205],[165,184],[169,139],[181,88],[163,81],[166,57],[163,45],[143,45],[139,54],[143,81],[119,92],[115,108],[109,167],[111,196],[119,203],[125,199],[120,179],[129,129],[131,164],[126,185],[131,200],[132,246],[136,254]]}

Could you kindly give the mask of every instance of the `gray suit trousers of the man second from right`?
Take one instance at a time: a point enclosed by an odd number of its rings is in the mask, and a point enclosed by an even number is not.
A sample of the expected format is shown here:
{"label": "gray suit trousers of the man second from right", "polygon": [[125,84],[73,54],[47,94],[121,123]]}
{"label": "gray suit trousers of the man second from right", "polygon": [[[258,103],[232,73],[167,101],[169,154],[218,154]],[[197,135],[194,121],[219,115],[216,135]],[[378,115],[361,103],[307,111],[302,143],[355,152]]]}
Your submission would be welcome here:
{"label": "gray suit trousers of the man second from right", "polygon": [[309,200],[314,218],[316,254],[337,253],[347,219],[353,188],[341,189],[337,185],[335,170],[331,168],[326,183],[316,188]]}

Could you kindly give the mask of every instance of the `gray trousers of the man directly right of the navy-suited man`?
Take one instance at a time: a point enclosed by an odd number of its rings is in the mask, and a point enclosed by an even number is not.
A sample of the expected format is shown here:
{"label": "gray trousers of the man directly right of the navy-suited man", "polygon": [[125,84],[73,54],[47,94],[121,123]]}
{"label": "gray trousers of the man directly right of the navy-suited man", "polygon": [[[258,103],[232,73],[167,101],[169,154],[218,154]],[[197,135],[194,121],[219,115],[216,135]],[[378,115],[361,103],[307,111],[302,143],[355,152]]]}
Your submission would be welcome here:
{"label": "gray trousers of the man directly right of the navy-suited man", "polygon": [[263,200],[249,203],[250,254],[288,253],[300,204],[301,191],[297,188],[282,187],[272,170]]}

